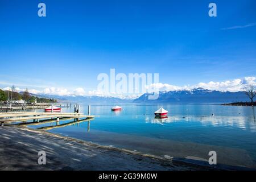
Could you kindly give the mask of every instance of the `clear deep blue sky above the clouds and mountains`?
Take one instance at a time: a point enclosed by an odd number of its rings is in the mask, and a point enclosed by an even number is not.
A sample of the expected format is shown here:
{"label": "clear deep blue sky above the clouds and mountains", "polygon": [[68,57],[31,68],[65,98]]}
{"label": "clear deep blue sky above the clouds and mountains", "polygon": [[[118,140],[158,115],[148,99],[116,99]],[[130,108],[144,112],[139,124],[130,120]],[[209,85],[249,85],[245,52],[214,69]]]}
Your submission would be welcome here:
{"label": "clear deep blue sky above the clouds and mountains", "polygon": [[255,9],[254,0],[1,0],[0,88],[96,90],[110,68],[177,86],[255,77]]}

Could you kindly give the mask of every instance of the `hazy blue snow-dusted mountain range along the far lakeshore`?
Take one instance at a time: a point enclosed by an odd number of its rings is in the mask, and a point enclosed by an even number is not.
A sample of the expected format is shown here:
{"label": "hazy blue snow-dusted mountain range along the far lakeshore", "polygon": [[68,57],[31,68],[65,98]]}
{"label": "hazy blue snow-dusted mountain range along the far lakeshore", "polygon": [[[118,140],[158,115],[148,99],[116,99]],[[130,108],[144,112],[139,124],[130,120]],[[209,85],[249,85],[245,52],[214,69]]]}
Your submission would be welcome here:
{"label": "hazy blue snow-dusted mountain range along the far lakeshore", "polygon": [[106,96],[57,96],[48,94],[32,94],[36,97],[55,98],[58,102],[77,102],[77,103],[229,103],[229,102],[245,102],[249,101],[245,92],[228,92],[208,90],[203,88],[196,88],[192,90],[175,90],[169,92],[159,92],[159,97],[156,100],[148,100],[150,93],[142,94],[142,96],[135,99],[122,99],[117,97]]}

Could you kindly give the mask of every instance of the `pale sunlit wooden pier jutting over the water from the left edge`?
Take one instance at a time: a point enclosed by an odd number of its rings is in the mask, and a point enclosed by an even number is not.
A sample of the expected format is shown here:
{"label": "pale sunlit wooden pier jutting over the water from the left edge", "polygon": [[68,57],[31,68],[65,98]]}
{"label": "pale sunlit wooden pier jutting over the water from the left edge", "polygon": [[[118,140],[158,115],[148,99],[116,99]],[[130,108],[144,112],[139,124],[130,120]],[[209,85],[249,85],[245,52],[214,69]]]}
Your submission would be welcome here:
{"label": "pale sunlit wooden pier jutting over the water from the left edge", "polygon": [[19,121],[39,121],[39,119],[55,119],[59,121],[63,118],[94,118],[93,115],[84,115],[83,113],[39,113],[39,112],[11,112],[11,113],[0,113],[0,123],[7,122],[19,122]]}

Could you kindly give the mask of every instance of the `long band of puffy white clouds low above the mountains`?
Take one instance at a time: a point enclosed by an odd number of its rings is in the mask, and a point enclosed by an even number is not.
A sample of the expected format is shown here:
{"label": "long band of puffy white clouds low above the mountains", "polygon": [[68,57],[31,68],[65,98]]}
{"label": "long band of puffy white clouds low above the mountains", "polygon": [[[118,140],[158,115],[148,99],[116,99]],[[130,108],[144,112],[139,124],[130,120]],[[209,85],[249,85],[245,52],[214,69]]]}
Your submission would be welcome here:
{"label": "long band of puffy white clouds low above the mountains", "polygon": [[[254,85],[256,86],[256,78],[255,77],[245,77],[245,78],[237,78],[234,80],[226,80],[221,82],[199,82],[196,85],[184,85],[184,86],[176,86],[170,84],[150,84],[146,86],[148,92],[154,92],[156,89],[159,91],[173,91],[173,90],[191,90],[194,88],[204,88],[209,90],[220,90],[220,91],[230,91],[230,92],[238,92],[245,90],[248,86]],[[11,87],[3,88],[3,90],[11,90]],[[22,92],[25,88],[15,88],[16,92]],[[65,88],[45,88],[43,90],[36,90],[36,89],[28,89],[28,92],[33,94],[49,94],[49,95],[57,95],[57,96],[112,96],[112,97],[119,97],[119,98],[135,98],[138,97],[140,94],[114,94],[114,93],[106,93],[102,90],[92,90],[85,92],[84,88],[76,88],[74,90],[68,90]],[[141,93],[142,94],[142,93]]]}

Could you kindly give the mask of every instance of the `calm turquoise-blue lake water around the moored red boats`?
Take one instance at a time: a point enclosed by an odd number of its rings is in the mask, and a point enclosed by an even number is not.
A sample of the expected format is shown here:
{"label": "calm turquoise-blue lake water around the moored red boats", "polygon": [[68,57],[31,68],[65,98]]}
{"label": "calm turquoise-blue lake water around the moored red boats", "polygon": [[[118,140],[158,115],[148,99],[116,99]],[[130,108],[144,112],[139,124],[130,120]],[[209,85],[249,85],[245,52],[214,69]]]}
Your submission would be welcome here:
{"label": "calm turquoise-blue lake water around the moored red boats", "polygon": [[[245,106],[212,104],[187,105],[92,105],[93,121],[51,129],[49,132],[106,146],[126,148],[175,158],[208,160],[208,152],[217,152],[217,161],[232,166],[255,167],[256,109]],[[155,119],[154,111],[163,106],[168,118]],[[81,112],[87,114],[87,105]],[[63,108],[72,112],[73,108]],[[212,116],[214,113],[214,116]],[[73,121],[60,121],[68,123]],[[39,128],[56,123],[30,126]]]}

